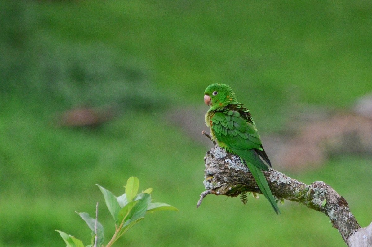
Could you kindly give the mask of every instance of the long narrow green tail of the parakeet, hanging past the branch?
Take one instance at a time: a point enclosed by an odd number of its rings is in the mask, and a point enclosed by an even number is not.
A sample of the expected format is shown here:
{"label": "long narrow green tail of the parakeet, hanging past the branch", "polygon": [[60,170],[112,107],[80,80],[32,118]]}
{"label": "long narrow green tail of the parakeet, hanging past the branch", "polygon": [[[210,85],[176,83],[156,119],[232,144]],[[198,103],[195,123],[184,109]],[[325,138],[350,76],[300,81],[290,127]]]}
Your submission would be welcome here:
{"label": "long narrow green tail of the parakeet, hanging past the branch", "polygon": [[[243,160],[242,160],[243,162]],[[255,165],[251,164],[250,162],[243,162],[246,163],[247,167],[251,171],[254,179],[257,182],[258,187],[260,188],[262,194],[266,197],[266,199],[270,202],[271,206],[273,207],[276,214],[280,214],[280,210],[278,205],[275,202],[273,194],[271,193],[269,184],[267,184],[267,180],[261,168],[256,167]]]}

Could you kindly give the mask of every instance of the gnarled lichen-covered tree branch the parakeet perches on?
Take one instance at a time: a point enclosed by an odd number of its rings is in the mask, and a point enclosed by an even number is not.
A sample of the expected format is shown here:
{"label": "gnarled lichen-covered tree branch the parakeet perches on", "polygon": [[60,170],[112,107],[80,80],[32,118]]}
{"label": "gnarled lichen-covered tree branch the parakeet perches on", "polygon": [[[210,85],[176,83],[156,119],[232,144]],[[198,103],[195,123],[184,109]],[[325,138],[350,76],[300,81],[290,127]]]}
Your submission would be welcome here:
{"label": "gnarled lichen-covered tree branch the parakeet perches on", "polygon": [[[261,193],[249,169],[241,164],[238,156],[226,153],[223,148],[216,145],[206,153],[204,160],[203,184],[206,191],[202,192],[197,207],[208,194],[236,197],[242,192]],[[359,240],[357,241],[356,237],[364,236],[369,241],[372,240],[371,229],[360,228],[350,212],[347,201],[330,185],[322,181],[307,185],[274,169],[264,171],[264,175],[275,197],[299,202],[327,215],[348,246],[364,246],[358,245]],[[369,227],[372,228],[372,224]],[[358,229],[364,229],[365,233],[356,234],[359,232]]]}

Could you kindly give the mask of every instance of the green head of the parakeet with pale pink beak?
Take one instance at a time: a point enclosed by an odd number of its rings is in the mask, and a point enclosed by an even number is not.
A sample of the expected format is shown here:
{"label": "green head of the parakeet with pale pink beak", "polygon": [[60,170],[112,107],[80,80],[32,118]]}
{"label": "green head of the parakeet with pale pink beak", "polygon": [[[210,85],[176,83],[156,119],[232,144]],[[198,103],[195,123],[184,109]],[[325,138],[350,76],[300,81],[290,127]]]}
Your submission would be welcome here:
{"label": "green head of the parakeet with pale pink beak", "polygon": [[204,92],[204,102],[213,108],[237,103],[235,93],[226,84],[209,85]]}

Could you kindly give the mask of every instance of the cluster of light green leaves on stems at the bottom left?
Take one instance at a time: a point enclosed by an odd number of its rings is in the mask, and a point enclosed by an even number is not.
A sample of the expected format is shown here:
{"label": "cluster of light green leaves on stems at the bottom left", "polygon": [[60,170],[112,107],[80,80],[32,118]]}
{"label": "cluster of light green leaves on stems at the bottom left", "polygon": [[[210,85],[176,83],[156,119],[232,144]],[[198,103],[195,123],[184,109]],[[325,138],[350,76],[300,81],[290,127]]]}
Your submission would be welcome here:
{"label": "cluster of light green leaves on stems at the bottom left", "polygon": [[[148,188],[147,190],[137,194],[139,185],[140,181],[138,178],[130,177],[126,182],[125,193],[119,197],[115,197],[112,192],[98,185],[103,197],[105,198],[110,214],[115,221],[115,233],[106,247],[112,246],[119,237],[138,223],[138,221],[142,220],[146,212],[160,210],[178,211],[177,208],[171,205],[161,202],[151,202],[150,193],[153,190],[152,188]],[[105,241],[103,225],[97,221],[97,212],[95,219],[90,217],[88,213],[78,214],[92,230],[92,244],[86,247],[103,247],[103,242]],[[67,244],[67,247],[84,247],[81,240],[62,231],[57,231]]]}

